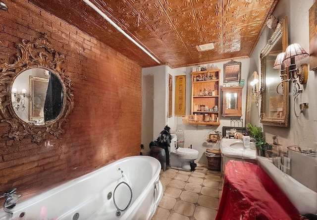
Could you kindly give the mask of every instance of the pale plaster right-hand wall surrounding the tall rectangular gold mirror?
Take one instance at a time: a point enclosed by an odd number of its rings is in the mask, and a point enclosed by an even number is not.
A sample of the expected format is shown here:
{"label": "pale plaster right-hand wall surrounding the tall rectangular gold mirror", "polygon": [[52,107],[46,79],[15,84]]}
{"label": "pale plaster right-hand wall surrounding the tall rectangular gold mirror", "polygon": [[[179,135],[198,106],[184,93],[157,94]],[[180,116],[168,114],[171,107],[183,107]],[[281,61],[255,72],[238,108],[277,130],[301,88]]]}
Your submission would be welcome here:
{"label": "pale plaster right-hand wall surrounding the tall rectangular gold mirror", "polygon": [[[309,8],[313,4],[313,0],[305,1],[289,1],[280,0],[273,15],[282,19],[288,17],[288,36],[289,44],[299,43],[309,53]],[[266,41],[270,38],[271,31],[266,27],[257,44],[256,49],[250,57],[250,68],[258,69],[260,73],[260,51],[264,47]],[[300,60],[297,67],[301,63],[309,63],[309,58]],[[308,83],[301,86],[304,92],[298,96],[295,101],[295,107],[298,108],[299,103],[309,102],[309,109],[300,117],[296,117],[294,113],[294,96],[290,95],[289,105],[289,127],[281,128],[275,126],[263,126],[266,135],[266,142],[272,143],[272,136],[278,135],[279,143],[284,146],[297,145],[302,149],[316,148],[317,142],[317,77],[316,72],[309,71]],[[290,92],[293,84],[290,84]],[[259,107],[260,108],[260,107]],[[252,114],[253,121],[259,121],[255,114]]]}

